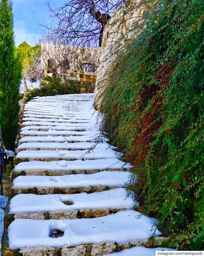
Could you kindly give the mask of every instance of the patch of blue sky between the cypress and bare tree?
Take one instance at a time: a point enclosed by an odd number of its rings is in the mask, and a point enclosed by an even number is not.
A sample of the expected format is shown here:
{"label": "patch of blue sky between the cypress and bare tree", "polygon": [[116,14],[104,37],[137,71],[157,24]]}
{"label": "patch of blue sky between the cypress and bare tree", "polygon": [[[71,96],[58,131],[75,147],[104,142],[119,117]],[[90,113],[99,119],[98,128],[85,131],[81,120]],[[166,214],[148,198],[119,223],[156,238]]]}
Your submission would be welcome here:
{"label": "patch of blue sky between the cypress and bare tree", "polygon": [[[13,0],[14,34],[16,46],[23,41],[30,45],[38,42],[44,26],[51,24],[47,0]],[[62,6],[66,0],[49,0],[50,5]]]}

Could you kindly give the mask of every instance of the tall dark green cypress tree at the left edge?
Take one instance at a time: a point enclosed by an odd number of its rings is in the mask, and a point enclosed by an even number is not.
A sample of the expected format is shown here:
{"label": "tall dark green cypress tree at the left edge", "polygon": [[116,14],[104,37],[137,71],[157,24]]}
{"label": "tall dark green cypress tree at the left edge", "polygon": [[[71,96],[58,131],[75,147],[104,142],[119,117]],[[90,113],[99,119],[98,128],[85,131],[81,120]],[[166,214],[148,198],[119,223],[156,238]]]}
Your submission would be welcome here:
{"label": "tall dark green cypress tree at the left edge", "polygon": [[22,65],[15,53],[11,0],[0,2],[0,124],[6,149],[14,150],[18,134]]}

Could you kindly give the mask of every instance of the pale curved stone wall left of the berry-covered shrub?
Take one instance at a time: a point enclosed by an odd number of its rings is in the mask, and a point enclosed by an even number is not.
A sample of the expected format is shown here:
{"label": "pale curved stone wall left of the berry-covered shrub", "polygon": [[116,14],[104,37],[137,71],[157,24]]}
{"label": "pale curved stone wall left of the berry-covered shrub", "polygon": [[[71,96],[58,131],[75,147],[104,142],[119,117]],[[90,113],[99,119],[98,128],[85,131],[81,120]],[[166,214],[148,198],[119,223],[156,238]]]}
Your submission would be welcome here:
{"label": "pale curved stone wall left of the berry-covered shrub", "polygon": [[127,1],[126,5],[117,10],[108,20],[102,38],[97,78],[95,87],[95,106],[100,110],[104,95],[104,88],[108,82],[110,70],[114,62],[137,36],[144,22],[141,18],[143,9],[137,1]]}

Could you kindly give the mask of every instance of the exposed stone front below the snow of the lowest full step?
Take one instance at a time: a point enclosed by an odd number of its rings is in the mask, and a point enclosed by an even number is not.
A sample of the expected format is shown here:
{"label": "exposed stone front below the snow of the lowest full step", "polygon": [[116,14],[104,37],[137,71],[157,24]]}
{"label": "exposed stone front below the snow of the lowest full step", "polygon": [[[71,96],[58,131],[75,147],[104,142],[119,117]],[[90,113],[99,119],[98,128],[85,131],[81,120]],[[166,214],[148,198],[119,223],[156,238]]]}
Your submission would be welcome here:
{"label": "exposed stone front below the snow of the lowest full step", "polygon": [[[167,246],[170,242],[169,238],[163,236],[154,236],[153,238],[143,239],[142,241],[130,241],[126,243],[116,243],[116,242],[102,242],[98,244],[89,243],[89,244],[80,244],[76,246],[66,246],[63,248],[54,247],[54,246],[39,246],[37,248],[24,248],[24,249],[13,249],[9,247],[8,242],[8,231],[4,230],[3,234],[3,243],[2,255],[5,256],[112,256],[111,254],[116,252],[122,252],[123,250],[132,248],[133,246],[139,246],[145,248],[155,248],[157,246]],[[165,248],[164,248],[165,249]],[[168,249],[169,250],[169,249]],[[116,254],[116,256],[117,256]],[[133,254],[134,255],[134,254]],[[133,256],[131,254],[131,256]],[[151,256],[151,254],[146,254]],[[154,256],[155,253],[152,255]],[[115,255],[113,255],[115,256]]]}

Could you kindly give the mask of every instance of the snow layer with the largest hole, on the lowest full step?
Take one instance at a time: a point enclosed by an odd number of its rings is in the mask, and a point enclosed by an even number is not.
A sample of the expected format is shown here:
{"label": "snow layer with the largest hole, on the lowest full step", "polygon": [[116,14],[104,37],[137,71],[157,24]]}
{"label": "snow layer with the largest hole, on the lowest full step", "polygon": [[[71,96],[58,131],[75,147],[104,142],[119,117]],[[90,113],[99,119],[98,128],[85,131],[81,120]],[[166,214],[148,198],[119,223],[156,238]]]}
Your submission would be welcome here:
{"label": "snow layer with the largest hole, on the lowest full step", "polygon": [[[30,220],[15,219],[8,227],[8,239],[11,248],[37,246],[65,247],[84,243],[117,242],[125,243],[143,240],[152,235],[154,218],[139,212],[125,210],[98,218],[73,220]],[[52,230],[62,230],[64,235],[50,237]],[[156,235],[161,232],[156,230]]]}

